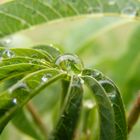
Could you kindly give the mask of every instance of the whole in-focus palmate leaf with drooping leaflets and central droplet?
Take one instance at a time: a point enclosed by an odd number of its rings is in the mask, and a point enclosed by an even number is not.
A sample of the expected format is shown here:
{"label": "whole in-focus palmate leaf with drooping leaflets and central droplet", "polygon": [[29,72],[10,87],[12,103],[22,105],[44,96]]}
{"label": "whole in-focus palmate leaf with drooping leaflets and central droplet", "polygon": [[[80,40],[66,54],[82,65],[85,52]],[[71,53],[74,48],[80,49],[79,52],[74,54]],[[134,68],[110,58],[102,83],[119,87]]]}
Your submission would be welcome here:
{"label": "whole in-focus palmate leaf with drooping leaflets and central droplet", "polygon": [[[35,49],[37,48],[39,47]],[[1,81],[6,83],[7,78],[8,81],[13,78],[17,80],[1,93],[0,130],[3,130],[8,121],[23,105],[48,85],[58,79],[67,81],[71,79],[67,89],[68,93],[62,102],[63,113],[60,115],[60,120],[50,139],[73,139],[81,109],[82,85],[85,81],[93,91],[97,101],[100,118],[100,140],[107,140],[108,138],[126,140],[127,125],[124,108],[119,91],[113,82],[98,71],[83,70],[82,62],[77,56],[65,54],[53,57],[51,54],[57,50],[51,48],[52,52],[49,53],[47,48],[50,49],[50,47],[46,46],[45,48],[46,50],[22,48],[7,50],[1,48]],[[26,59],[23,59],[25,54]],[[10,58],[9,63],[6,63],[8,58]],[[43,63],[40,64],[42,59]],[[38,67],[34,68],[34,65]],[[29,66],[31,66],[30,69]]]}

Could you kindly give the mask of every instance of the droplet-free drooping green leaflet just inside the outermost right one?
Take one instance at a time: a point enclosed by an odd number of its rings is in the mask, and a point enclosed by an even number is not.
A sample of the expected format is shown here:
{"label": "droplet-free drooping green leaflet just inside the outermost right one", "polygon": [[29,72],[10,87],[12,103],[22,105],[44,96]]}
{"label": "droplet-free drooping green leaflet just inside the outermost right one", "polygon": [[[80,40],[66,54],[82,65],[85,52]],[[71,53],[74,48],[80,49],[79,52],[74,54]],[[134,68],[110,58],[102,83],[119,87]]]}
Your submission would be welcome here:
{"label": "droplet-free drooping green leaflet just inside the outermost right one", "polygon": [[82,78],[86,82],[87,86],[91,89],[96,99],[100,126],[99,139],[115,140],[115,116],[111,106],[111,101],[107,96],[106,91],[92,76],[88,76],[83,72]]}

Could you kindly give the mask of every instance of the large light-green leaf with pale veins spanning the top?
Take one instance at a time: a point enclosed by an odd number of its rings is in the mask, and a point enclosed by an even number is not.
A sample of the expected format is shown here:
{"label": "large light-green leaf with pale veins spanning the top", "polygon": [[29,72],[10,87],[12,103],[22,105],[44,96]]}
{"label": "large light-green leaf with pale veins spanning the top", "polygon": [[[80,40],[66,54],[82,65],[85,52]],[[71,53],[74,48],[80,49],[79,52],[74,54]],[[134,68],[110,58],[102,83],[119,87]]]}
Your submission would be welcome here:
{"label": "large light-green leaf with pale veins spanning the top", "polygon": [[[132,6],[130,12],[129,6]],[[123,12],[139,16],[139,6],[135,0],[118,0],[114,3],[108,0],[13,0],[0,6],[0,37],[33,25],[83,14]]]}

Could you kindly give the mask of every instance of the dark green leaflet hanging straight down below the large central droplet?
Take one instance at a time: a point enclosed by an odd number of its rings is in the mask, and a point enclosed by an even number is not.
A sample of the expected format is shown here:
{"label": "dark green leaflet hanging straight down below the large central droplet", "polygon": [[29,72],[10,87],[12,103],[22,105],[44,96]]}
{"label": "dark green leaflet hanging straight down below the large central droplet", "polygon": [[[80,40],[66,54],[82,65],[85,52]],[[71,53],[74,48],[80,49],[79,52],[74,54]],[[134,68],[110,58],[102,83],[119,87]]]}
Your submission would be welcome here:
{"label": "dark green leaflet hanging straight down below the large central droplet", "polygon": [[82,96],[81,79],[74,76],[71,78],[67,97],[63,104],[63,112],[50,140],[73,139],[81,111]]}

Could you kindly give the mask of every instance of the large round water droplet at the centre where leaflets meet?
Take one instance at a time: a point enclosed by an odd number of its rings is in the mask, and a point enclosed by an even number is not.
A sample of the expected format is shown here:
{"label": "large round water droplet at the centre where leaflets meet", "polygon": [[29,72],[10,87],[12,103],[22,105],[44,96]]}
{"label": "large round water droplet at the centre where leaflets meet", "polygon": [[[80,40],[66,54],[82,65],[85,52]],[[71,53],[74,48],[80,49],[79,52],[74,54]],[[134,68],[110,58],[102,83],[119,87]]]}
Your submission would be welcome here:
{"label": "large round water droplet at the centre where leaflets meet", "polygon": [[72,54],[64,54],[59,56],[56,59],[55,64],[62,70],[71,74],[80,73],[83,69],[81,60],[78,58],[78,56]]}

